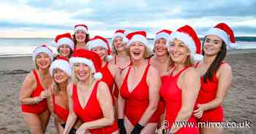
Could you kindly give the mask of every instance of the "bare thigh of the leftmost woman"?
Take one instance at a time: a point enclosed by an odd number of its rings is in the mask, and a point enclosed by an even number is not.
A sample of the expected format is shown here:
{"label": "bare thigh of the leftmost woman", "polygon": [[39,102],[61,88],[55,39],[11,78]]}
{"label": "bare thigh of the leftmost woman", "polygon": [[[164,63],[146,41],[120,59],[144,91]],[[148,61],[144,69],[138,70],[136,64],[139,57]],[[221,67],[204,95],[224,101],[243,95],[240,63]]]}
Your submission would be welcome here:
{"label": "bare thigh of the leftmost woman", "polygon": [[23,112],[23,119],[29,127],[31,134],[43,134],[42,123],[37,114]]}

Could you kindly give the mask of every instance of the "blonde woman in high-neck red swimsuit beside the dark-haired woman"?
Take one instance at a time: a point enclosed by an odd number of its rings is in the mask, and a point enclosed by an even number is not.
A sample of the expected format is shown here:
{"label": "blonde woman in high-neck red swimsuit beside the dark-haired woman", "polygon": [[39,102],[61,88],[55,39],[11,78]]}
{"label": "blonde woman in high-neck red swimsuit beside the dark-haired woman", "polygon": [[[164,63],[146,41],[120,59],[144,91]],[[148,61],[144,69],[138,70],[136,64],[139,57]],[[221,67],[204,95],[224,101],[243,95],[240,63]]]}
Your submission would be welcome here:
{"label": "blonde woman in high-neck red swimsuit beside the dark-haired woman", "polygon": [[[168,133],[199,133],[192,112],[200,90],[200,76],[192,67],[192,60],[198,59],[200,40],[195,31],[184,25],[170,34],[168,51],[170,53],[170,74],[162,83],[160,95],[165,103],[165,127]],[[192,126],[178,126],[175,123],[190,122]],[[162,128],[159,133],[162,133]]]}

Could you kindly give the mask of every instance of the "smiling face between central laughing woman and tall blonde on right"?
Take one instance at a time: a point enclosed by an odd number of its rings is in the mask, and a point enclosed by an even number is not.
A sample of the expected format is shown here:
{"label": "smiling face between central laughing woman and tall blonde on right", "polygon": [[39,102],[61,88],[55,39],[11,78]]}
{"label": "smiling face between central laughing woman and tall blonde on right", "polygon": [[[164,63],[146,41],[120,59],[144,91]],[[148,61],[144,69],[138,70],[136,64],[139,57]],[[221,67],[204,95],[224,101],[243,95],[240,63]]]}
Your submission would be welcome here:
{"label": "smiling face between central laughing woman and tall blonde on right", "polygon": [[168,55],[166,45],[167,45],[166,39],[163,39],[163,38],[157,39],[157,41],[154,44],[154,53],[157,56]]}

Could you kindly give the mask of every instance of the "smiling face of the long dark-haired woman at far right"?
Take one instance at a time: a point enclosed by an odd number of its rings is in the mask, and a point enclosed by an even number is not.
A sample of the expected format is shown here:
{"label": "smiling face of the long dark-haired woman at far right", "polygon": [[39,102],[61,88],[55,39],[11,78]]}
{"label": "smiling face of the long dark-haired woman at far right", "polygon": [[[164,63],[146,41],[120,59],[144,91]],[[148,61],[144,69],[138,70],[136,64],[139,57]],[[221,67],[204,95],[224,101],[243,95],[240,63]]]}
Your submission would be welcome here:
{"label": "smiling face of the long dark-haired woman at far right", "polygon": [[222,48],[223,41],[219,36],[209,35],[203,44],[203,52],[205,55],[217,55]]}

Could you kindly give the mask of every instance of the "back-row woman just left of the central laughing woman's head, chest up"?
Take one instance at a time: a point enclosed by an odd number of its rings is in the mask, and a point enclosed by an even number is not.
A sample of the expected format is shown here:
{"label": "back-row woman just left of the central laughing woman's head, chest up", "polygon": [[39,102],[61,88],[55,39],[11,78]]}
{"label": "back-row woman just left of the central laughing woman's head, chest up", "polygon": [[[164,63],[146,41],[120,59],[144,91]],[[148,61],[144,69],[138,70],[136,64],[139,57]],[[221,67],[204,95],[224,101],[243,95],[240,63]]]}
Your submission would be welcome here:
{"label": "back-row woman just left of the central laughing woman's head, chest up", "polygon": [[113,54],[114,59],[110,61],[110,63],[118,66],[119,70],[122,71],[124,68],[127,68],[131,63],[129,55],[126,52],[127,46],[127,31],[117,30],[113,36]]}

